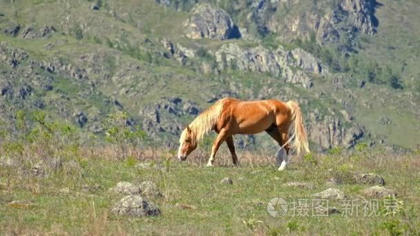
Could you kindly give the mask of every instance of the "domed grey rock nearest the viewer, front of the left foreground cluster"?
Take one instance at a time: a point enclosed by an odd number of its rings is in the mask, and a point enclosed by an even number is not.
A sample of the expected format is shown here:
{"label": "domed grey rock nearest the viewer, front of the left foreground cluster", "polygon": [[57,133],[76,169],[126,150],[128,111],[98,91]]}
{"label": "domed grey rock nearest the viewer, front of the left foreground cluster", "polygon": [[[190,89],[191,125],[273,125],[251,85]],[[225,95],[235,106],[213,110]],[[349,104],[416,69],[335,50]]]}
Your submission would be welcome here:
{"label": "domed grey rock nearest the viewer, front of the left foreground cluster", "polygon": [[160,215],[160,210],[152,201],[139,195],[128,195],[118,201],[111,213],[115,215],[129,215],[134,217]]}

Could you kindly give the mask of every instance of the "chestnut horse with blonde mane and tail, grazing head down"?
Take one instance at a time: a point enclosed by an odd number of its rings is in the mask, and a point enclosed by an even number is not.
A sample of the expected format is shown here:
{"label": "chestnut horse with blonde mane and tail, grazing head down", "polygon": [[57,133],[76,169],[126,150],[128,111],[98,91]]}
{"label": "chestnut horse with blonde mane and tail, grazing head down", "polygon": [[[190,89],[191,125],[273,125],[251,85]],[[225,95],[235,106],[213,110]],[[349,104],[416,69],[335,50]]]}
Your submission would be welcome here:
{"label": "chestnut horse with blonde mane and tail, grazing head down", "polygon": [[240,101],[238,99],[220,99],[182,131],[178,158],[181,161],[197,148],[198,141],[211,130],[218,133],[211,148],[207,166],[212,166],[220,144],[226,141],[234,165],[238,165],[233,135],[253,135],[267,132],[286,150],[285,158],[278,170],[284,170],[287,164],[289,149],[293,148],[299,155],[304,149],[309,153],[309,144],[303,117],[295,101],[278,100]]}

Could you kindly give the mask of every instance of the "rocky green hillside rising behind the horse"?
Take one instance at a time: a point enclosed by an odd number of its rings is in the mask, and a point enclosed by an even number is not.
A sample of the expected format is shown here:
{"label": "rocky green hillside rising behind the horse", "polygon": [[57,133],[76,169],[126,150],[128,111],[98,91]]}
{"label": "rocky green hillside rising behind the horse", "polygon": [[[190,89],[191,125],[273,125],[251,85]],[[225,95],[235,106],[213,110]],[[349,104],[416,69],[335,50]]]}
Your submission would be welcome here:
{"label": "rocky green hillside rising behind the horse", "polygon": [[[313,150],[413,150],[419,10],[415,0],[0,0],[0,120],[41,109],[101,135],[106,115],[124,110],[173,147],[222,97],[295,99]],[[236,142],[275,149],[267,135]]]}

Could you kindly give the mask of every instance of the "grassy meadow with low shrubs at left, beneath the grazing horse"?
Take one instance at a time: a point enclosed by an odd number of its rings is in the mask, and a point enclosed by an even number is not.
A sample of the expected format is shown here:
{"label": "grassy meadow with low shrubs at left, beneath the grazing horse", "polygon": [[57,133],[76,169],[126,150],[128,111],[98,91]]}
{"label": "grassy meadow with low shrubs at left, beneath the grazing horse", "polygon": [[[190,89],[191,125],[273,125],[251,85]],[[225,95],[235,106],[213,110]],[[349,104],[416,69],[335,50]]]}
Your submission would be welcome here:
{"label": "grassy meadow with low shrubs at left, beneath the grazing horse", "polygon": [[[240,166],[231,164],[223,146],[216,166],[205,167],[203,146],[180,162],[175,150],[135,146],[140,132],[124,131],[119,119],[109,126],[106,142],[79,143],[77,130],[48,123],[37,113],[35,126],[17,127],[26,135],[3,132],[0,159],[0,232],[2,235],[408,235],[419,234],[420,153],[393,155],[359,144],[351,154],[334,148],[322,155],[292,157],[288,169],[276,170],[275,157],[238,150]],[[19,120],[22,121],[19,123]],[[117,127],[117,128],[116,128]],[[128,135],[131,134],[131,135]],[[139,139],[137,139],[138,141]],[[142,148],[140,148],[142,147]],[[259,150],[259,153],[263,151]],[[394,208],[389,197],[366,197],[373,184],[355,181],[356,173],[375,173],[385,188],[397,191]],[[233,184],[221,183],[225,177]],[[340,212],[315,216],[312,194],[330,188],[334,177],[346,200],[328,200]],[[123,196],[108,189],[119,181],[153,181],[163,197],[149,199],[161,210],[155,217],[112,215]],[[289,182],[305,186],[285,186]],[[273,217],[267,204],[282,197],[286,215]],[[307,199],[305,208],[292,202]],[[350,214],[345,202],[376,200],[374,215]],[[348,201],[347,201],[348,200]],[[294,205],[296,206],[296,205]],[[296,211],[297,209],[297,211]],[[305,212],[306,210],[306,212]]]}

